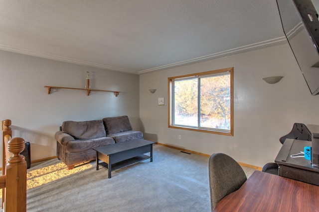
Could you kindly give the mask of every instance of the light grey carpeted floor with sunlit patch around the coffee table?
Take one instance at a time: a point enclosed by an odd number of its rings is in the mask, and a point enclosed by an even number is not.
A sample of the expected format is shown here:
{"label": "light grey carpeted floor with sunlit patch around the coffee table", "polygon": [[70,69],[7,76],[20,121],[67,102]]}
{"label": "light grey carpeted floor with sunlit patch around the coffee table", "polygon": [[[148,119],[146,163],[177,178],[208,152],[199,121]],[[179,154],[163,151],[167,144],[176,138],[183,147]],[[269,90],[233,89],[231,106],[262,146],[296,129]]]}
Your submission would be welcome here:
{"label": "light grey carpeted floor with sunlit patch around the coffee table", "polygon": [[[209,158],[154,144],[154,160],[112,172],[95,162],[67,170],[58,159],[32,164],[28,212],[209,212]],[[249,177],[254,169],[243,167]]]}

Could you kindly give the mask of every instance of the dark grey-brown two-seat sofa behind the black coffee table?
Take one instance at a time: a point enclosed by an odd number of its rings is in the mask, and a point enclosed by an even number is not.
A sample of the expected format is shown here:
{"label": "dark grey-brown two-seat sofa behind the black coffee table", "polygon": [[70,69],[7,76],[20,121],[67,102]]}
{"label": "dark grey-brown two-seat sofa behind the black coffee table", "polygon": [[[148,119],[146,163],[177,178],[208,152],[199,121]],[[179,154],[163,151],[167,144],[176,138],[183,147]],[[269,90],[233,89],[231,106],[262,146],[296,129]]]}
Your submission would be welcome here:
{"label": "dark grey-brown two-seat sofa behind the black coffee table", "polygon": [[56,155],[69,169],[94,160],[92,148],[116,142],[143,139],[143,133],[133,131],[128,116],[108,117],[92,121],[65,121],[55,133]]}

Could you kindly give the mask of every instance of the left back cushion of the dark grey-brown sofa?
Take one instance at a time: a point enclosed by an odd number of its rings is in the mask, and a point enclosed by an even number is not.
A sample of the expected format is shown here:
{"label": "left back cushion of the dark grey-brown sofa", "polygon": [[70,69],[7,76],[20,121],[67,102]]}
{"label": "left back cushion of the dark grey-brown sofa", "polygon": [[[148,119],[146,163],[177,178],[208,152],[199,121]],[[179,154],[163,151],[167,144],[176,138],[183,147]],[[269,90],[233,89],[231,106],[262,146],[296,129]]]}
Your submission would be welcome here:
{"label": "left back cushion of the dark grey-brown sofa", "polygon": [[96,139],[105,137],[106,132],[102,120],[74,122],[65,121],[62,124],[62,132],[73,136],[75,139]]}

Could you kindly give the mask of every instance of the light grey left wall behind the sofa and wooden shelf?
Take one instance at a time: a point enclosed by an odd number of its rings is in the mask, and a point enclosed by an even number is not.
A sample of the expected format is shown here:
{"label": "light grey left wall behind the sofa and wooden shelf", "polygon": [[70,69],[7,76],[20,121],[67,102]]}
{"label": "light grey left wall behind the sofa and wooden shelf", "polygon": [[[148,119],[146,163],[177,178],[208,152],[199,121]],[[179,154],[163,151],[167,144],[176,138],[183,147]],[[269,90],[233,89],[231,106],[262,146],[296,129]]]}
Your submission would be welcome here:
{"label": "light grey left wall behind the sofa and wooden shelf", "polygon": [[[115,97],[112,92],[91,91],[87,96],[85,90],[59,89],[48,95],[44,88],[45,85],[84,88],[86,71],[91,73],[92,89],[122,93]],[[12,137],[22,137],[31,143],[31,161],[56,155],[54,134],[66,120],[127,115],[134,130],[140,130],[136,74],[0,51],[0,76],[0,121],[10,119]]]}

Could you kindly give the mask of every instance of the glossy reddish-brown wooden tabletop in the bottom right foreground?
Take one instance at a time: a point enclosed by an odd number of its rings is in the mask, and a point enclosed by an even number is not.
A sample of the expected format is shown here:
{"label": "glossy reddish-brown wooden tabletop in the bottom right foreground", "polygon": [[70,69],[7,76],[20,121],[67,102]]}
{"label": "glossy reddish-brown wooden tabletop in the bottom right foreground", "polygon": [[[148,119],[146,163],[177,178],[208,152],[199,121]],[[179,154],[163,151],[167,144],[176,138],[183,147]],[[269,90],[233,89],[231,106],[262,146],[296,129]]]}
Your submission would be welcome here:
{"label": "glossy reddish-brown wooden tabletop in the bottom right foreground", "polygon": [[319,186],[255,171],[237,191],[224,197],[214,212],[315,212]]}

